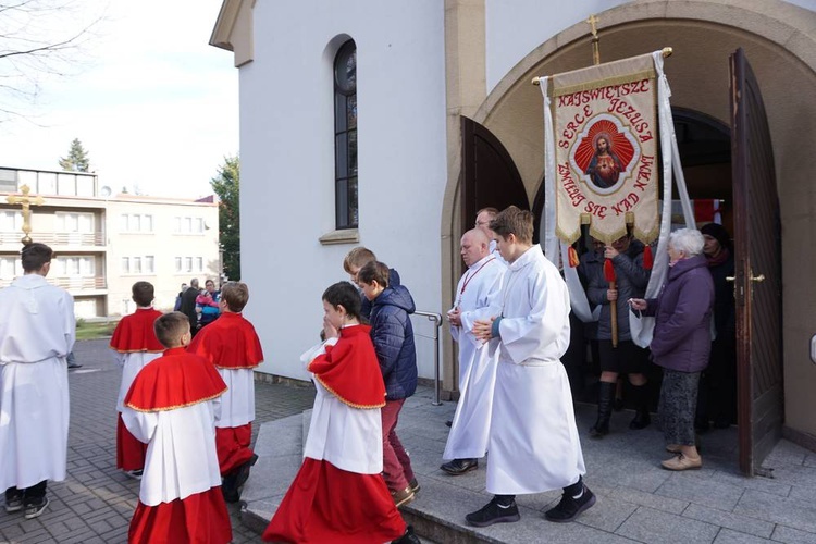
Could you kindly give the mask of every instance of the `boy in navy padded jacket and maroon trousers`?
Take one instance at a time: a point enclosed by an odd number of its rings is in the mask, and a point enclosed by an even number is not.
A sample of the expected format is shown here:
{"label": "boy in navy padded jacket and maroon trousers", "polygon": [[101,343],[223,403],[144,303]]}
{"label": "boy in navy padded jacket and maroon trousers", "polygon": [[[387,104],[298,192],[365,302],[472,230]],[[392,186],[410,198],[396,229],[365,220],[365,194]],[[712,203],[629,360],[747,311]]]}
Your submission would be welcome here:
{"label": "boy in navy padded jacket and maroon trousers", "polygon": [[417,390],[417,350],[410,314],[413,298],[403,285],[388,283],[390,270],[382,262],[363,265],[357,281],[371,302],[371,339],[385,382],[385,406],[382,408],[383,477],[397,506],[415,498],[419,483],[411,460],[397,437],[399,410]]}

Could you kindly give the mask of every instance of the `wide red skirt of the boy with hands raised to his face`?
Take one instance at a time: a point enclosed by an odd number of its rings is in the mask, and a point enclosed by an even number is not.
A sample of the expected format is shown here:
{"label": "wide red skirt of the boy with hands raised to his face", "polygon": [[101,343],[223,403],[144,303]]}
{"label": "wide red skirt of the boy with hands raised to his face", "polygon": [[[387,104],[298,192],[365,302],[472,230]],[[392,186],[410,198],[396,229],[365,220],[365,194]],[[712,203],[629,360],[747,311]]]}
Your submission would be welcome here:
{"label": "wide red skirt of the boy with hands raised to his face", "polygon": [[263,540],[382,544],[401,537],[405,529],[382,475],[347,472],[307,457]]}

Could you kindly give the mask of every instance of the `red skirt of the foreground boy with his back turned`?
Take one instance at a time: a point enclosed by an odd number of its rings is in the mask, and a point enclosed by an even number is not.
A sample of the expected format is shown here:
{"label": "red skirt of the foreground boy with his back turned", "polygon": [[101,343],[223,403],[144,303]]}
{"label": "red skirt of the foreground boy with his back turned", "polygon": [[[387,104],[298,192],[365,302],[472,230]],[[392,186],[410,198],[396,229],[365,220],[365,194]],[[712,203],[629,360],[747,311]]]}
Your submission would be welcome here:
{"label": "red skirt of the foreground boy with his back turned", "polygon": [[157,506],[136,506],[131,544],[226,544],[233,540],[230,514],[221,487]]}

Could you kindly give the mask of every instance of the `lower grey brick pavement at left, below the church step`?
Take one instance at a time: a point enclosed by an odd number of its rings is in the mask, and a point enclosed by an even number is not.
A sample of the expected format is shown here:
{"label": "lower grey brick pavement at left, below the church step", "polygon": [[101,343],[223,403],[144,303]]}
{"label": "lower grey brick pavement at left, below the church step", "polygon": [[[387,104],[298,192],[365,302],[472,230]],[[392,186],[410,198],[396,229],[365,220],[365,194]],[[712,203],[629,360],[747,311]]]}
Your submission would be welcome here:
{"label": "lower grey brick pavement at left, below the church step", "polygon": [[[0,543],[115,544],[127,542],[139,482],[116,469],[116,394],[122,372],[113,362],[108,339],[78,342],[82,369],[69,372],[71,426],[67,479],[49,482],[50,504],[39,517],[0,510]],[[256,384],[256,424],[311,408],[310,387]],[[238,519],[238,505],[227,505],[233,542],[260,542]]]}

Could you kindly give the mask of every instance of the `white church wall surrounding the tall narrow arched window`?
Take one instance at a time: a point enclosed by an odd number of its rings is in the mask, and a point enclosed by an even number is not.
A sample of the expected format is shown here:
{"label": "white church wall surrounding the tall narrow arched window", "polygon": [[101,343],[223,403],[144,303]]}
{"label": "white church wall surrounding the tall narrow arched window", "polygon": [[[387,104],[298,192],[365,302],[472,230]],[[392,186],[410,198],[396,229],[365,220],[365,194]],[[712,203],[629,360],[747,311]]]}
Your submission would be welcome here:
{"label": "white church wall surrounding the tall narrow arched window", "polygon": [[[298,357],[318,342],[320,296],[348,279],[343,257],[357,245],[319,242],[334,228],[332,63],[346,37],[357,45],[359,245],[399,271],[418,309],[442,310],[444,9],[292,0],[258,2],[254,17],[254,61],[240,67],[245,314],[263,344],[260,370],[307,379]],[[417,347],[431,378],[431,343]]]}

